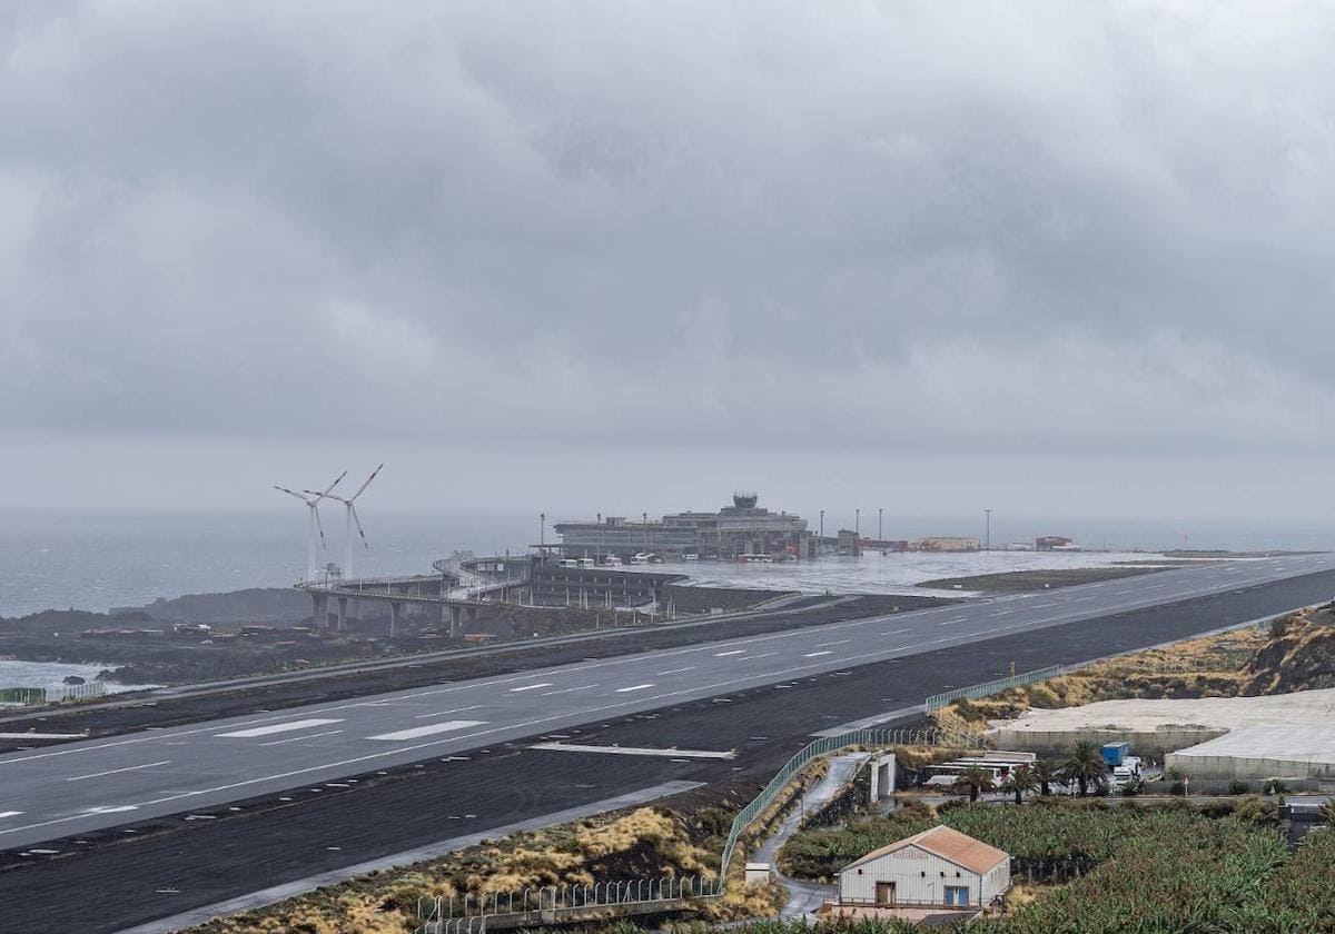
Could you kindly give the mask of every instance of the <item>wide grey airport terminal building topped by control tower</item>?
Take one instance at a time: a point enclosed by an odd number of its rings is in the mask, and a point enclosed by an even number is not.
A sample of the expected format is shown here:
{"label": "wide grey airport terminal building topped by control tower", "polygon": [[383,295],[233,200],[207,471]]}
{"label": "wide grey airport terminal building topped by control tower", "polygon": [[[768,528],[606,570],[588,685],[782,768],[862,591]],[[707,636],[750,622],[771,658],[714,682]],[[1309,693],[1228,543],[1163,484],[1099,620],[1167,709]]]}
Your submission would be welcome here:
{"label": "wide grey airport terminal building topped by control tower", "polygon": [[637,554],[663,556],[738,559],[750,556],[810,558],[816,538],[806,519],[770,512],[757,506],[756,494],[737,494],[733,504],[717,512],[676,512],[657,522],[627,522],[623,516],[599,516],[597,522],[558,522],[561,554],[594,558]]}

